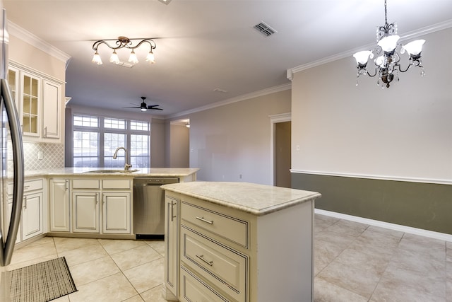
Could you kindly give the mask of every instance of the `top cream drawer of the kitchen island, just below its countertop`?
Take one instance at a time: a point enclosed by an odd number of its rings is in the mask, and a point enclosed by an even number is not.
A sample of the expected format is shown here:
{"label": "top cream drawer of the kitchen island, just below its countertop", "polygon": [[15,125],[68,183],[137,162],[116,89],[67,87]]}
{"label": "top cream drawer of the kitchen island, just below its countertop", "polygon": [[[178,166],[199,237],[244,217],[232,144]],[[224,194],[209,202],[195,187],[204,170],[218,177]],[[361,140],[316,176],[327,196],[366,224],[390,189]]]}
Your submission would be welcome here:
{"label": "top cream drawer of the kitchen island, just below its countertop", "polygon": [[181,219],[248,247],[248,222],[210,209],[181,202]]}

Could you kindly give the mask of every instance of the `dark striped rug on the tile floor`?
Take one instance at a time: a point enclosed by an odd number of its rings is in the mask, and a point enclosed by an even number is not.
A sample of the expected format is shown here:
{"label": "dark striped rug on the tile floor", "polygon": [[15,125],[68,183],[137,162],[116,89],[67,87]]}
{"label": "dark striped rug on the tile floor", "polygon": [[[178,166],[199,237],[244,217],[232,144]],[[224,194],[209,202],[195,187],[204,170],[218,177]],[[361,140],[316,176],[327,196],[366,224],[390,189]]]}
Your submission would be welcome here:
{"label": "dark striped rug on the tile floor", "polygon": [[47,302],[74,291],[64,257],[11,271],[11,302]]}

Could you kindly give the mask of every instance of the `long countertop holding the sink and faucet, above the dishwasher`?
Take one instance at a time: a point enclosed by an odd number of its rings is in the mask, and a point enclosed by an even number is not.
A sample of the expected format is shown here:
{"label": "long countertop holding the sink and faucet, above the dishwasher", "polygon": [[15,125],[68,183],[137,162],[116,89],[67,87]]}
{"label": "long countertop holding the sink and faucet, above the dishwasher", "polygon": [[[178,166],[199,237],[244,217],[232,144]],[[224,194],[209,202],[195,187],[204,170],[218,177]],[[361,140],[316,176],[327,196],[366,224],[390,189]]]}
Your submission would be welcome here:
{"label": "long countertop holding the sink and faucet, above the dishwasher", "polygon": [[135,172],[114,172],[114,173],[102,173],[102,172],[89,172],[93,170],[123,170],[122,168],[60,168],[49,170],[28,170],[25,171],[25,177],[32,176],[71,176],[71,175],[83,175],[83,176],[162,176],[162,177],[180,177],[188,176],[196,173],[198,168],[131,168],[131,170],[137,170]]}

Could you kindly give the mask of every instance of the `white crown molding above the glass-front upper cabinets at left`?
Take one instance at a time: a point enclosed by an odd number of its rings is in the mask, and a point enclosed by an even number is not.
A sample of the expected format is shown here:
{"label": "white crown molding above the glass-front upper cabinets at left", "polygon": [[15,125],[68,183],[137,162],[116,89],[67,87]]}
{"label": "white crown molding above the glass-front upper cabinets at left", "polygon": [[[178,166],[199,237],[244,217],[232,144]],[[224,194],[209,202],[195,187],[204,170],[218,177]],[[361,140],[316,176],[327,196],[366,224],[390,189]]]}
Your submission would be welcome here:
{"label": "white crown molding above the glass-front upper cabinets at left", "polygon": [[71,59],[71,56],[69,54],[66,54],[66,52],[62,52],[57,47],[50,45],[40,37],[37,37],[37,35],[33,35],[28,30],[21,28],[16,23],[8,21],[8,32],[10,35],[18,37],[20,40],[27,42],[28,44],[36,47],[38,50],[42,50],[43,52],[59,59],[64,63],[67,63],[69,59]]}

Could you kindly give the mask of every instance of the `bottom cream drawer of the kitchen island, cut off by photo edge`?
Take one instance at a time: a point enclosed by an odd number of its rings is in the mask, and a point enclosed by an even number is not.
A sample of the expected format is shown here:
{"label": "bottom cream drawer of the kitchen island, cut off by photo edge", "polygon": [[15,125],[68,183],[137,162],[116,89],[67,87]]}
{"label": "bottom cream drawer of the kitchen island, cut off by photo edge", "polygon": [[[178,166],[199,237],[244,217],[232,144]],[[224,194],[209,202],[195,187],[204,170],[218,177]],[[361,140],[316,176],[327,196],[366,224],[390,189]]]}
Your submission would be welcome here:
{"label": "bottom cream drawer of the kitchen island, cut off by photo edge", "polygon": [[205,284],[201,279],[191,274],[188,269],[181,266],[181,298],[182,301],[200,302],[225,302],[230,301],[224,298],[217,291]]}

